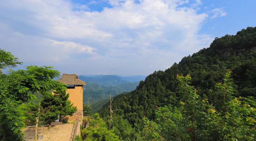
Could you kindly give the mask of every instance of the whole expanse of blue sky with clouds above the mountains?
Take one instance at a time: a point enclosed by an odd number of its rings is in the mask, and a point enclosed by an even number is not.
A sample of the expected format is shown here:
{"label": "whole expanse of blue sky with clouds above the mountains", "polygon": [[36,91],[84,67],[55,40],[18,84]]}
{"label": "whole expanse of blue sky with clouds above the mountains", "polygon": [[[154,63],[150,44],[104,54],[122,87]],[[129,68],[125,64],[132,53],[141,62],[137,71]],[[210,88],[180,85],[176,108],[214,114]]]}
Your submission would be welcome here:
{"label": "whole expanse of blue sky with clouds above the mountains", "polygon": [[68,74],[149,75],[256,26],[254,0],[1,0],[0,48]]}

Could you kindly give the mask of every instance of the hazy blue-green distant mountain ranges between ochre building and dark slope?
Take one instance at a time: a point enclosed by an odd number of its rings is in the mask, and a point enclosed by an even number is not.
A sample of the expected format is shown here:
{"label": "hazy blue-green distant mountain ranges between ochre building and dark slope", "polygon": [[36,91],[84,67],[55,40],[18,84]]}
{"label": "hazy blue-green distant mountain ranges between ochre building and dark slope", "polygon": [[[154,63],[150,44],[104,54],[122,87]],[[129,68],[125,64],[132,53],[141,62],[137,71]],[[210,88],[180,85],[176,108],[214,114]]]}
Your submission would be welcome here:
{"label": "hazy blue-green distant mountain ranges between ochre building and dark slope", "polygon": [[121,77],[117,75],[84,75],[78,76],[86,82],[83,89],[83,102],[87,104],[95,103],[99,100],[109,98],[123,92],[131,92],[136,89],[141,80],[146,76]]}

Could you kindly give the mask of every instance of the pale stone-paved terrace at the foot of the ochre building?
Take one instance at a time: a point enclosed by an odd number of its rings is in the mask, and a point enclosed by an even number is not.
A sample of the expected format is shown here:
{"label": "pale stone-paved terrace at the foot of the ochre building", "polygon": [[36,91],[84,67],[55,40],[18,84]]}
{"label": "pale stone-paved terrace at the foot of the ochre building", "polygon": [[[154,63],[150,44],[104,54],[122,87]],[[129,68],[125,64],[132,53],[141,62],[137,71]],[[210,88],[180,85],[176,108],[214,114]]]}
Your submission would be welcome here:
{"label": "pale stone-paved terrace at the foot of the ochre building", "polygon": [[[35,126],[27,126],[22,132],[24,141],[35,140]],[[48,125],[44,125],[37,129],[38,141],[71,141],[71,133],[74,130],[74,124],[52,122],[52,128],[48,129]],[[74,131],[73,131],[74,132]]]}

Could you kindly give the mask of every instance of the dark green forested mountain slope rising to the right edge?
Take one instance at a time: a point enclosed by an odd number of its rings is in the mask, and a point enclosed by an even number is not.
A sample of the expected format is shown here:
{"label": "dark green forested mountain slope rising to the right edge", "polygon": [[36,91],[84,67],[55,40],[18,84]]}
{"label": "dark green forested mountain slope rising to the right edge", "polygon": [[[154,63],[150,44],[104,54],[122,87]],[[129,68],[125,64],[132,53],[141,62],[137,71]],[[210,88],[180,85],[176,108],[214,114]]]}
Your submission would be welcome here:
{"label": "dark green forested mountain slope rising to the right edge", "polygon": [[[142,129],[142,119],[155,119],[156,107],[177,105],[177,75],[190,74],[191,84],[199,99],[218,104],[216,83],[222,82],[227,69],[232,71],[235,96],[256,96],[256,27],[248,27],[236,35],[225,35],[214,40],[209,48],[185,56],[169,69],[155,71],[141,81],[136,90],[118,95],[112,102],[114,113],[127,119],[133,127]],[[109,115],[109,102],[99,111]]]}

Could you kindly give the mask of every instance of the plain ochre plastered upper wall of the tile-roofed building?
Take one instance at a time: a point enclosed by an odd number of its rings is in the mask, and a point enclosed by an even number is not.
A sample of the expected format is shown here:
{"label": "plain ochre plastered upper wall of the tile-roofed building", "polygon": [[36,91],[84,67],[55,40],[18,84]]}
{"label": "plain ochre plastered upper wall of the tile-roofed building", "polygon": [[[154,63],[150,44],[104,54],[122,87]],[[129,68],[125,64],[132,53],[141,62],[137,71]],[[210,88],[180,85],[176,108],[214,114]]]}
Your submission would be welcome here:
{"label": "plain ochre plastered upper wall of the tile-roofed building", "polygon": [[69,100],[73,106],[77,107],[77,110],[83,110],[83,86],[75,86],[74,89],[67,89],[69,93]]}

